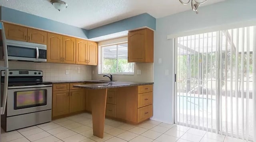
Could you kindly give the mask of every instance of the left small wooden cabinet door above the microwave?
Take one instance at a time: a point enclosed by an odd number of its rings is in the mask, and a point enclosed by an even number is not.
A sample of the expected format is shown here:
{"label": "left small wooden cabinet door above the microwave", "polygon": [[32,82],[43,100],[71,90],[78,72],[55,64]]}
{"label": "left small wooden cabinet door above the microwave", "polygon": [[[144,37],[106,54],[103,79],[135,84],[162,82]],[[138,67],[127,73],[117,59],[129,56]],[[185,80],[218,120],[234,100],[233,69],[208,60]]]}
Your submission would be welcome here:
{"label": "left small wooden cabinet door above the microwave", "polygon": [[26,27],[4,23],[5,36],[8,40],[27,41]]}

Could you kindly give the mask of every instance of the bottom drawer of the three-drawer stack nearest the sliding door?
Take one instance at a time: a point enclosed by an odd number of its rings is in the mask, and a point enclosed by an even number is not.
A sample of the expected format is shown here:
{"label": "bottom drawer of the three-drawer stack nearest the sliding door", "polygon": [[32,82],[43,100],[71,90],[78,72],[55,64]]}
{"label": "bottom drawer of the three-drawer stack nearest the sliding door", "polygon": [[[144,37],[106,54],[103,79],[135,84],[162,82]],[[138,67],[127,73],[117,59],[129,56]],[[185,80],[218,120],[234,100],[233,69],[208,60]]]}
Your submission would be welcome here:
{"label": "bottom drawer of the three-drawer stack nearest the sliding door", "polygon": [[143,108],[138,108],[138,122],[150,118],[152,114],[152,104]]}

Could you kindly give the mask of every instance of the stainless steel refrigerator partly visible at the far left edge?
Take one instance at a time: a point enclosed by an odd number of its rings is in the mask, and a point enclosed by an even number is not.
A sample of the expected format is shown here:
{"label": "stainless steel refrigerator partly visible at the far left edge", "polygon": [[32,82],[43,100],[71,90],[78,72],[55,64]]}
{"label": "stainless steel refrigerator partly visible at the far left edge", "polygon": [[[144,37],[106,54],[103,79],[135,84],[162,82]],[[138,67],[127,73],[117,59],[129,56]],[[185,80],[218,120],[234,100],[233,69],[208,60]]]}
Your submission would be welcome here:
{"label": "stainless steel refrigerator partly visible at the far left edge", "polygon": [[[0,70],[3,72],[8,72],[8,54],[7,54],[7,45],[6,45],[6,36],[4,32],[4,23],[0,22],[0,58],[4,60],[3,64],[0,62]],[[8,87],[8,74],[4,75],[4,80],[2,80],[3,85],[0,86],[0,114],[5,114],[6,110],[6,98],[7,98],[7,87]],[[1,123],[1,122],[0,122]],[[1,133],[1,129],[0,129]],[[1,142],[1,135],[0,135]]]}

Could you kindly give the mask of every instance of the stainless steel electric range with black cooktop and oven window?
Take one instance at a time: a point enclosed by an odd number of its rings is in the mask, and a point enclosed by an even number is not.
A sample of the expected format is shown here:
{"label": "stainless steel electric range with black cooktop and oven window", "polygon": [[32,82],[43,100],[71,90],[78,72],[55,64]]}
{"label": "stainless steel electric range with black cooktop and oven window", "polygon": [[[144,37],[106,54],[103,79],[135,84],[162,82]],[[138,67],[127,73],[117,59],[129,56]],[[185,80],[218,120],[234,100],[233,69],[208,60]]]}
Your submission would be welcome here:
{"label": "stainless steel electric range with black cooktop and oven window", "polygon": [[[1,71],[1,82],[5,74]],[[43,82],[43,72],[38,70],[9,70],[8,74],[6,113],[1,116],[1,127],[8,132],[50,122],[52,82]]]}

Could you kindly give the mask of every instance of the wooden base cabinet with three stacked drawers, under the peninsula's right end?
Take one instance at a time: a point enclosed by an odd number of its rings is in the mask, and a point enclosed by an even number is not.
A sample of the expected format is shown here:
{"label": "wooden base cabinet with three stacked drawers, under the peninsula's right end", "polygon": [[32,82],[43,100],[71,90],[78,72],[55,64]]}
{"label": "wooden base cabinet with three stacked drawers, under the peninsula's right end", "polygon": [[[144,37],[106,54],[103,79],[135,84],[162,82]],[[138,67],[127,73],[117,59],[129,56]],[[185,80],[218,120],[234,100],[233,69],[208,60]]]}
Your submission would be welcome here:
{"label": "wooden base cabinet with three stacked drawers, under the peninsula's right end", "polygon": [[[141,88],[145,91],[141,91]],[[116,118],[138,124],[153,116],[152,85],[120,87],[116,91]],[[143,93],[142,93],[143,92]]]}

